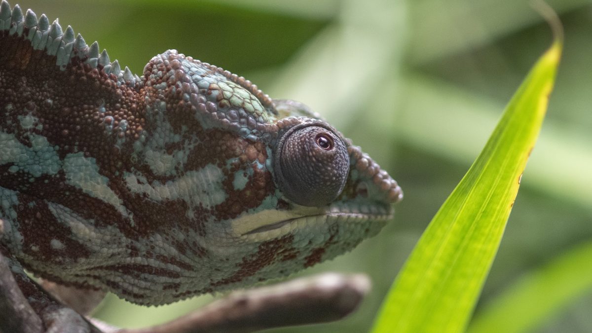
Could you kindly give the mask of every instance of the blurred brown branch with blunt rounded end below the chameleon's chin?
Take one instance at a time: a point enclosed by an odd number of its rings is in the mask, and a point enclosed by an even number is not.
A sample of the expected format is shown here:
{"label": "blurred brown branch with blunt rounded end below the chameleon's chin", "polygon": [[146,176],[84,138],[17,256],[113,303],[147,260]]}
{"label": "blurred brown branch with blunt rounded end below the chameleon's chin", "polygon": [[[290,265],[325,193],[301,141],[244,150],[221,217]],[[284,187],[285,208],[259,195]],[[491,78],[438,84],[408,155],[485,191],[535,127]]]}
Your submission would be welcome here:
{"label": "blurred brown branch with blunt rounded end below the chameleon's chin", "polygon": [[117,333],[250,332],[335,321],[358,308],[369,289],[362,274],[327,273],[234,292],[166,324]]}

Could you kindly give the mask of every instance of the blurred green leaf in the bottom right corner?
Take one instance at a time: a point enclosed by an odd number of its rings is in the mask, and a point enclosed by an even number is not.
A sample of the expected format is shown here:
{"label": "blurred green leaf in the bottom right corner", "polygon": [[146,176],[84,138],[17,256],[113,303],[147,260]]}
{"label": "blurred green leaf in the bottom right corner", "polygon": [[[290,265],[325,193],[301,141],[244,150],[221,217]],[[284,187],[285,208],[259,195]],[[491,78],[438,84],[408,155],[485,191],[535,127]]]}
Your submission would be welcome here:
{"label": "blurred green leaf in the bottom right corner", "polygon": [[592,242],[520,278],[475,316],[469,332],[526,332],[592,289]]}

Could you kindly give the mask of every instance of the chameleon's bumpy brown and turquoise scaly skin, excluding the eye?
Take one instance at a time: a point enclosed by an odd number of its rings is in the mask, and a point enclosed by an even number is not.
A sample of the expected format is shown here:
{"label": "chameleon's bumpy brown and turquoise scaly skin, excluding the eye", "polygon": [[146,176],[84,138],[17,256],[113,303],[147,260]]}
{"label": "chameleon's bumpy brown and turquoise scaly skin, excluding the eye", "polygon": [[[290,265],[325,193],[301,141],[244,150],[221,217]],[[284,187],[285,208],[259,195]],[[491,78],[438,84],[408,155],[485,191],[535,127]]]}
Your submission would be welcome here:
{"label": "chameleon's bumpy brown and turquoise scaly skin, excluding the eye", "polygon": [[[159,305],[286,276],[391,219],[397,183],[304,105],[175,50],[141,77],[98,50],[2,1],[0,250],[22,267]],[[321,207],[295,204],[274,169],[308,123],[349,155]]]}

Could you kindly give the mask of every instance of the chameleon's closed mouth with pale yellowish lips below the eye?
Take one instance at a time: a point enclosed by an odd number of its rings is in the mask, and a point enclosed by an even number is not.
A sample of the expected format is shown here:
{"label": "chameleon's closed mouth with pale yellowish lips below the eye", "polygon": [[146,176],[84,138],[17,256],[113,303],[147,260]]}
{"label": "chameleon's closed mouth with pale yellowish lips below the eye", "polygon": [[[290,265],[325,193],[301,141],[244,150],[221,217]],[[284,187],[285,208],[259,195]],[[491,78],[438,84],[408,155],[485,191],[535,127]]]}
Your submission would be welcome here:
{"label": "chameleon's closed mouth with pale yellowish lips below the eye", "polygon": [[314,228],[314,226],[326,223],[384,222],[392,219],[393,214],[394,210],[390,205],[350,207],[343,204],[333,204],[327,207],[326,212],[307,214],[267,223],[251,230],[246,230],[242,233],[242,236],[260,236],[265,234],[276,237],[296,229]]}

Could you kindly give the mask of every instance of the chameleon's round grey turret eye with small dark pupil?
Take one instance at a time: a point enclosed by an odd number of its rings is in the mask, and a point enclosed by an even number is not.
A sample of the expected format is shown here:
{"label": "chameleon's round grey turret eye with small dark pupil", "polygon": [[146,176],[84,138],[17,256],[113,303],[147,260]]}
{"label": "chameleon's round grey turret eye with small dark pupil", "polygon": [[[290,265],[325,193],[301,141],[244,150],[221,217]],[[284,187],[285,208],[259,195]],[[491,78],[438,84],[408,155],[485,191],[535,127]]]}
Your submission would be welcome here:
{"label": "chameleon's round grey turret eye with small dark pupil", "polygon": [[289,200],[302,206],[325,206],[345,187],[348,149],[332,130],[295,127],[276,146],[274,171],[279,189]]}

